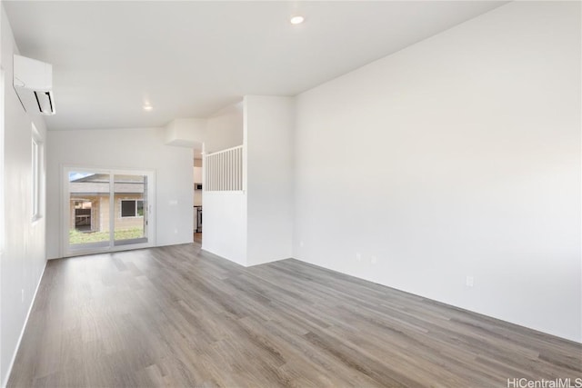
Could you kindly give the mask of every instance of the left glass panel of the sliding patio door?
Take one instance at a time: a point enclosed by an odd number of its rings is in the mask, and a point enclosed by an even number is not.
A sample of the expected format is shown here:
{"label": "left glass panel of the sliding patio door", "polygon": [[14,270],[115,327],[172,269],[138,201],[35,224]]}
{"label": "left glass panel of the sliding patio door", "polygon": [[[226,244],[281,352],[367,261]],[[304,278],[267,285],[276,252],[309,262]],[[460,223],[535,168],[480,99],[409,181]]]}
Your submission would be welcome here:
{"label": "left glass panel of the sliding patio door", "polygon": [[69,249],[109,247],[109,174],[69,171],[67,179]]}

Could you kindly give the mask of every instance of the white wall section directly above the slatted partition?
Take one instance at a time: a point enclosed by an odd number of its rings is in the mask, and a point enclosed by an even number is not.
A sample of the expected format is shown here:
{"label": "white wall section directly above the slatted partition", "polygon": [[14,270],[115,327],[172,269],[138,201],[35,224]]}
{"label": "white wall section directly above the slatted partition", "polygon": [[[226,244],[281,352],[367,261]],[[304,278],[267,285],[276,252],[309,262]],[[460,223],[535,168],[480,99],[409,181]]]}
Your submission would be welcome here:
{"label": "white wall section directly above the slatted partition", "polygon": [[212,154],[243,144],[243,103],[226,106],[206,119],[205,152]]}

